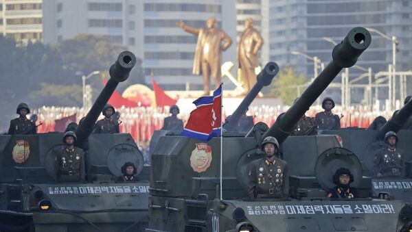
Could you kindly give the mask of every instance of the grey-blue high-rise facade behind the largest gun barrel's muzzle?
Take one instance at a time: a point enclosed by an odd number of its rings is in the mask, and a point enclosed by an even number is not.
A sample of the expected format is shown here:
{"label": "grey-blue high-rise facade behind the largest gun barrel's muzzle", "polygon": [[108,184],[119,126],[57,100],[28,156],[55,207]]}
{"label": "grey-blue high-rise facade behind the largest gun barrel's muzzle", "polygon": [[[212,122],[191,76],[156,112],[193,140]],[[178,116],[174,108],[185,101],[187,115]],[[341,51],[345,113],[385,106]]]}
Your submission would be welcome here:
{"label": "grey-blue high-rise facade behind the largest gun barrel's muzzle", "polygon": [[[371,27],[399,41],[397,70],[410,68],[412,53],[412,2],[408,0],[277,0],[268,1],[270,60],[279,65],[299,68],[308,79],[314,75],[314,64],[292,51],[317,56],[327,64],[332,59],[333,44],[323,37],[341,42],[353,27]],[[267,14],[267,13],[266,13]],[[392,42],[371,33],[373,42],[358,60],[358,65],[371,67],[374,73],[387,70],[392,63]],[[363,73],[350,69],[350,79]],[[339,81],[340,76],[336,77]]]}

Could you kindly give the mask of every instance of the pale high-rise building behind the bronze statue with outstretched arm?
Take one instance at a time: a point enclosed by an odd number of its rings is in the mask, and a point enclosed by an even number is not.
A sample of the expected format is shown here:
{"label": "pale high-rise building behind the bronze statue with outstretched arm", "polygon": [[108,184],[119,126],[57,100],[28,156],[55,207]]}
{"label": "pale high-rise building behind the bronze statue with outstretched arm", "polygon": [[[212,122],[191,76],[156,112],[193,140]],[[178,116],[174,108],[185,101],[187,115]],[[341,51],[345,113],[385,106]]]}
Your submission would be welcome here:
{"label": "pale high-rise building behind the bronze statue with outstretched arm", "polygon": [[[48,0],[43,3],[44,41],[56,43],[87,33],[107,36],[143,60],[146,82],[151,75],[166,90],[201,88],[192,75],[196,36],[176,23],[206,27],[213,16],[236,41],[235,0]],[[223,53],[235,60],[236,42]]]}

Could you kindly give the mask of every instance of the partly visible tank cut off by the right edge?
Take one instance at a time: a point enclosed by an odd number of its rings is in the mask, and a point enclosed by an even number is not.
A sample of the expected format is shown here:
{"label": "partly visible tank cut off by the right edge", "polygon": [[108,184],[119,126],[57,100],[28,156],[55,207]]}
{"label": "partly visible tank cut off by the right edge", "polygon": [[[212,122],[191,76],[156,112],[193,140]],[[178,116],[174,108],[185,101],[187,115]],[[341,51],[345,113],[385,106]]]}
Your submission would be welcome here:
{"label": "partly visible tank cut off by the right edge", "polygon": [[412,103],[409,101],[400,110],[393,113],[393,116],[380,129],[370,130],[362,128],[346,128],[341,130],[320,131],[322,134],[334,134],[341,138],[343,147],[350,149],[358,155],[363,166],[365,175],[372,175],[374,157],[379,149],[385,147],[383,140],[385,133],[394,131],[397,133],[399,142],[397,147],[405,151],[405,166],[407,176],[405,178],[376,178],[372,179],[374,186],[374,196],[386,192],[389,197],[396,198],[404,203],[412,202],[412,144],[410,138],[412,130],[403,130],[402,126],[412,116]]}

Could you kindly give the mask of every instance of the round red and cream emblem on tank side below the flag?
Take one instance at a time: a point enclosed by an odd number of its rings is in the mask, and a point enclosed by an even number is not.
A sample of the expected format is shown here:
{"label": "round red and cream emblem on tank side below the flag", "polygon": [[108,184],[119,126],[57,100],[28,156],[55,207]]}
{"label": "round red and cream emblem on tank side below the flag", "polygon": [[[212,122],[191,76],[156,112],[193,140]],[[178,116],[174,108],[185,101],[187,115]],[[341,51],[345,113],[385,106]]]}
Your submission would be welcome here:
{"label": "round red and cream emblem on tank side below the flag", "polygon": [[205,172],[211,164],[211,147],[206,143],[196,144],[190,156],[190,166],[195,172]]}

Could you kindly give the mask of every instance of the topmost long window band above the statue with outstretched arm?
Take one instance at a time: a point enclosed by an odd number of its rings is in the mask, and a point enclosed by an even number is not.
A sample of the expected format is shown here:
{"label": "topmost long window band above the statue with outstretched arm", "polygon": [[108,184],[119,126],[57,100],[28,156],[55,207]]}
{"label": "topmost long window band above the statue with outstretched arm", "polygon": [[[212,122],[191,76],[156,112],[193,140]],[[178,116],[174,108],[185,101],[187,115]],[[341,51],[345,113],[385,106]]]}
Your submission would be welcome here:
{"label": "topmost long window band above the statue with outstretched arm", "polygon": [[220,5],[194,3],[145,3],[144,11],[183,11],[220,13]]}

